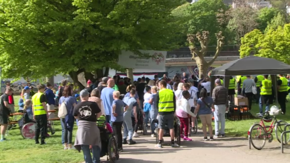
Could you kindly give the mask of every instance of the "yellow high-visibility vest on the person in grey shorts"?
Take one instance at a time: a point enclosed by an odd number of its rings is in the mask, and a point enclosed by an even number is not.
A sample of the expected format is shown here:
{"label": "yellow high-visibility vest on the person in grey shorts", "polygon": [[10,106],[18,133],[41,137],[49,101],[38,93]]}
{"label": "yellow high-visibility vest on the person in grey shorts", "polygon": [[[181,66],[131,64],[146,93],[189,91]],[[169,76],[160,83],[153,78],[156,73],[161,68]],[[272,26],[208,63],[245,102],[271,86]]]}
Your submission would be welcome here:
{"label": "yellow high-visibility vest on the person in grey shorts", "polygon": [[158,112],[173,112],[173,91],[169,89],[161,89],[159,91]]}

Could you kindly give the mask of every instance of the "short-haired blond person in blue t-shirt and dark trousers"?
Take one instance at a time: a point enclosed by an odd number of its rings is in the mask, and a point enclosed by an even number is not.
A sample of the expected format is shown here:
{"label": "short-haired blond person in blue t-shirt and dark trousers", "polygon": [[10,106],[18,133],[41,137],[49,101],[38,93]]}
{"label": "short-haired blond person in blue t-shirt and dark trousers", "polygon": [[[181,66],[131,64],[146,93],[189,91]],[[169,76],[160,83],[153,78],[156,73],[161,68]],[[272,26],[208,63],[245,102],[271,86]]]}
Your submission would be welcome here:
{"label": "short-haired blond person in blue t-shirt and dark trousers", "polygon": [[122,124],[123,124],[123,113],[124,113],[124,108],[125,111],[128,109],[128,106],[119,99],[120,97],[120,92],[119,91],[114,91],[113,92],[113,98],[114,101],[112,103],[112,110],[111,110],[111,122],[112,122],[112,127],[114,134],[116,136],[116,142],[119,151],[123,150],[122,147]]}

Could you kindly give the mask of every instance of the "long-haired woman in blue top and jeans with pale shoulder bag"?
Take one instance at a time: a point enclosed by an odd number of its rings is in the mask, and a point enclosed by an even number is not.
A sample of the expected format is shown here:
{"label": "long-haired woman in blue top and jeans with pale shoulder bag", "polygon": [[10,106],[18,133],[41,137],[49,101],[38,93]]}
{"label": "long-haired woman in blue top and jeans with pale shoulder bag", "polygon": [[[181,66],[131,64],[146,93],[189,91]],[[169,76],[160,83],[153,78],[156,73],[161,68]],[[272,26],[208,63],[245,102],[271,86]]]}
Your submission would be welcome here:
{"label": "long-haired woman in blue top and jeans with pale shoulder bag", "polygon": [[[72,88],[70,86],[64,86],[62,96],[59,99],[59,107],[61,106],[62,103],[65,104],[67,114],[70,114],[73,117],[73,111],[74,107],[76,106],[77,100],[75,97],[72,95]],[[62,144],[64,144],[64,149],[74,149],[73,145],[71,144],[72,139],[73,139],[73,124],[67,124],[65,122],[65,118],[60,119],[61,122],[61,127],[62,127]],[[74,121],[73,121],[74,122]],[[69,125],[71,129],[67,128],[67,125]]]}

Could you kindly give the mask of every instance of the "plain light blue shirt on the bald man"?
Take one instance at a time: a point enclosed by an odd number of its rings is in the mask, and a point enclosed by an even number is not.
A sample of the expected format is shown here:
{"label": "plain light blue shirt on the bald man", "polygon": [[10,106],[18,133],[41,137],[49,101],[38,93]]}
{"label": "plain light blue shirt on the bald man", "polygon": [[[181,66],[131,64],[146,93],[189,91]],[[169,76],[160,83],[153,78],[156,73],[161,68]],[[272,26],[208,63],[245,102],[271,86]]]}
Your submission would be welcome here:
{"label": "plain light blue shirt on the bald man", "polygon": [[103,100],[106,115],[111,115],[112,103],[114,101],[113,99],[114,91],[115,91],[114,89],[106,87],[101,92],[101,100]]}

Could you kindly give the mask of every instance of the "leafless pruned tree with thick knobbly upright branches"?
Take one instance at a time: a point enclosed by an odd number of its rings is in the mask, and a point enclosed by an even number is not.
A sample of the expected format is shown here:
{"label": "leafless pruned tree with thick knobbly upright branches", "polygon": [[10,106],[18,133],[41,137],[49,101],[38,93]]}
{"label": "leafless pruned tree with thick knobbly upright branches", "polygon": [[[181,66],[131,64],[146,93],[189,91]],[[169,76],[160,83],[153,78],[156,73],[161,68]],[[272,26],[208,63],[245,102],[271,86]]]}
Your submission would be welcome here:
{"label": "leafless pruned tree with thick knobbly upright branches", "polygon": [[[196,61],[196,64],[199,68],[199,75],[203,74],[204,76],[207,73],[208,67],[214,62],[216,58],[218,58],[222,46],[224,44],[225,37],[223,36],[223,33],[220,31],[219,33],[215,34],[217,45],[216,45],[216,51],[213,56],[213,58],[207,62],[204,57],[207,53],[207,47],[209,43],[209,32],[208,31],[202,31],[202,33],[197,32],[197,34],[188,34],[187,35],[187,41],[189,43],[189,49],[190,53],[192,54],[192,60]],[[200,43],[201,49],[199,50],[196,47],[196,40]]]}

